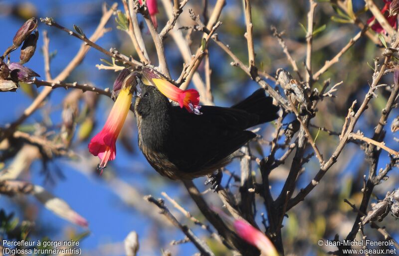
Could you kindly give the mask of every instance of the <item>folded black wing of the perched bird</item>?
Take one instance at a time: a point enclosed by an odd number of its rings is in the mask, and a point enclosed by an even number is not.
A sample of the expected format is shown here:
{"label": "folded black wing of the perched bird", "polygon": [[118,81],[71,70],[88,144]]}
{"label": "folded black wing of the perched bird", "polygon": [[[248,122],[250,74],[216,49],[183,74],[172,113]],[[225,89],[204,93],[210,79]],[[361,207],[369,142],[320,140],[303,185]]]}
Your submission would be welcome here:
{"label": "folded black wing of the perched bird", "polygon": [[[256,134],[243,130],[258,116],[237,109],[203,106],[202,115],[173,107],[170,159],[182,171],[197,172],[225,161]],[[179,145],[179,146],[178,146]]]}

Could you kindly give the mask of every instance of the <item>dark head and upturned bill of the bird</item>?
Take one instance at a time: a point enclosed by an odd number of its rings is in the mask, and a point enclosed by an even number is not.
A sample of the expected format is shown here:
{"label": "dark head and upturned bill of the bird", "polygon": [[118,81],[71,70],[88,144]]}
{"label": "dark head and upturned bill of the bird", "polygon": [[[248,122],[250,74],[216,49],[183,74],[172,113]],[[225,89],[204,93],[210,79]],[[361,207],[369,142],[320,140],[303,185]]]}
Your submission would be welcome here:
{"label": "dark head and upturned bill of the bird", "polygon": [[137,76],[135,113],[142,118],[159,115],[169,110],[171,104],[155,86],[145,85]]}

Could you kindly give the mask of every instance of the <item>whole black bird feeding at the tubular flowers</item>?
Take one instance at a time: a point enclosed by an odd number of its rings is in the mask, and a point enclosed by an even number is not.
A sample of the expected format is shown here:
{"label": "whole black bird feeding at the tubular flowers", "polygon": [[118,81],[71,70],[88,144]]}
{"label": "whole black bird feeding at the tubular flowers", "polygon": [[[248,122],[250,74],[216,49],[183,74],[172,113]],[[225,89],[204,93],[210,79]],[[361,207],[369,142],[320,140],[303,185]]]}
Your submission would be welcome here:
{"label": "whole black bird feeding at the tubular flowers", "polygon": [[223,167],[234,151],[256,136],[245,129],[278,118],[279,108],[263,89],[230,108],[202,106],[202,115],[194,115],[137,80],[139,147],[157,172],[174,180],[194,179]]}

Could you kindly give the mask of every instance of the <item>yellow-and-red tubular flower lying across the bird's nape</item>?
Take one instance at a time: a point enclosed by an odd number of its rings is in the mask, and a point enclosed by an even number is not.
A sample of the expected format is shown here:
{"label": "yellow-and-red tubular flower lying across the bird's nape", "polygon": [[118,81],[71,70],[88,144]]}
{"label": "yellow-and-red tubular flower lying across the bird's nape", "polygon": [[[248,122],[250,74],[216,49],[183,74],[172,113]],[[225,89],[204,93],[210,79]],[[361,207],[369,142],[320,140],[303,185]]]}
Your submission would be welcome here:
{"label": "yellow-and-red tubular flower lying across the bird's nape", "polygon": [[196,115],[202,114],[200,112],[200,94],[197,90],[182,90],[149,67],[144,67],[142,72],[143,76],[155,85],[163,95],[179,103],[181,108],[185,107],[187,111]]}

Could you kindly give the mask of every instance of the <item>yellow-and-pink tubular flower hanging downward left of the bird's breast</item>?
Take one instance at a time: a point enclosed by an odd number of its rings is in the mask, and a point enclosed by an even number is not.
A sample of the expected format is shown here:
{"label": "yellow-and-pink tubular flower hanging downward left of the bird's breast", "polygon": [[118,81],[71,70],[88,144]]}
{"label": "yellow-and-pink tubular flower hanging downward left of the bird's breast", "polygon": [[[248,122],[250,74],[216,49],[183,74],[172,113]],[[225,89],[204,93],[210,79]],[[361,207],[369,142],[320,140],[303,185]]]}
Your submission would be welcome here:
{"label": "yellow-and-pink tubular flower hanging downward left of the bird's breast", "polygon": [[89,143],[89,151],[93,155],[98,155],[101,162],[98,165],[100,175],[107,165],[107,162],[114,160],[116,156],[115,142],[118,138],[126,116],[128,115],[133,95],[130,93],[130,86],[121,89],[119,96],[112,107],[104,128],[95,135]]}

